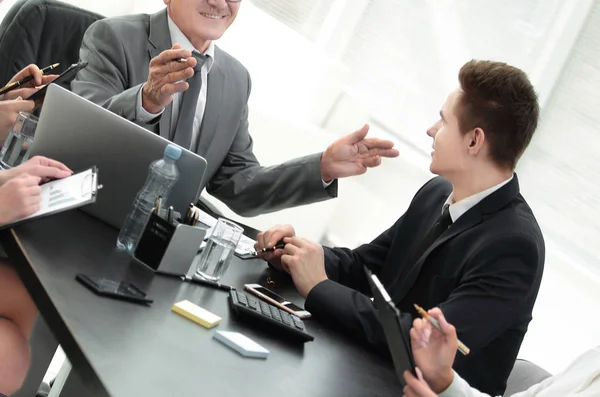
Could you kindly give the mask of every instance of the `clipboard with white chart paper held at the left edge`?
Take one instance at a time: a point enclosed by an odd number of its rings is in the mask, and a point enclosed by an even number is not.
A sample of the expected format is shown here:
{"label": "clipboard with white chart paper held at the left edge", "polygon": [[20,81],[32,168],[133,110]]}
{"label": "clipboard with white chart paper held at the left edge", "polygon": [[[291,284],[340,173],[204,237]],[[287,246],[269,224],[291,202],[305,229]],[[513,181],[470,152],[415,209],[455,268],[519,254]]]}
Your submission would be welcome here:
{"label": "clipboard with white chart paper held at the left edge", "polygon": [[98,184],[98,169],[94,166],[67,178],[44,183],[41,188],[40,209],[16,222],[1,226],[0,230],[95,203],[102,185]]}

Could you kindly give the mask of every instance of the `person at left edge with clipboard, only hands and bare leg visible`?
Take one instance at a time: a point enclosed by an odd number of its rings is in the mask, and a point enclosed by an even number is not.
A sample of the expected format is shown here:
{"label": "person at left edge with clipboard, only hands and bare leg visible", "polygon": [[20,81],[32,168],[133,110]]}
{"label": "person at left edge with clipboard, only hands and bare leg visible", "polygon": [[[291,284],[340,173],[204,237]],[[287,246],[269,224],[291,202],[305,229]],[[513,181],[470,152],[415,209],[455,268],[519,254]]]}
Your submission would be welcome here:
{"label": "person at left edge with clipboard, only hands and bare leg visible", "polygon": [[[0,171],[0,227],[35,213],[40,183],[62,179],[72,171],[64,164],[36,156]],[[29,335],[37,316],[35,304],[12,266],[0,258],[0,396],[17,391],[29,369]]]}

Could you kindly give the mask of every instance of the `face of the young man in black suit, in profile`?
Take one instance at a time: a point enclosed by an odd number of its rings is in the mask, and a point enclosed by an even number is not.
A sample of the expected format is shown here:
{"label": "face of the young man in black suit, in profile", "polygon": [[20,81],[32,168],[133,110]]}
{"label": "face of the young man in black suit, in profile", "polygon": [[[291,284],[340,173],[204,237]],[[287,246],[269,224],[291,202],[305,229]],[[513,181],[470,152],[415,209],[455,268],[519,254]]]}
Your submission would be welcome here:
{"label": "face of the young man in black suit, in profile", "polygon": [[440,120],[427,130],[427,135],[433,138],[429,170],[447,179],[464,172],[470,160],[470,137],[460,132],[455,111],[460,93],[461,90],[456,89],[448,95],[440,111]]}

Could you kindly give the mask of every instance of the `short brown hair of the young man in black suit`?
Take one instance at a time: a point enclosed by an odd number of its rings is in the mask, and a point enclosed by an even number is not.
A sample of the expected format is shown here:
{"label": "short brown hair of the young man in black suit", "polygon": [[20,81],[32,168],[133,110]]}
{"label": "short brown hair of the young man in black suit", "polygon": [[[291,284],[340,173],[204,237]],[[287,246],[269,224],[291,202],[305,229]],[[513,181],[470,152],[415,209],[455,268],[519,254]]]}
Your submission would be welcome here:
{"label": "short brown hair of the young man in black suit", "polygon": [[460,69],[458,80],[462,93],[455,111],[460,130],[481,128],[492,161],[514,169],[531,142],[540,113],[529,78],[506,63],[471,60]]}

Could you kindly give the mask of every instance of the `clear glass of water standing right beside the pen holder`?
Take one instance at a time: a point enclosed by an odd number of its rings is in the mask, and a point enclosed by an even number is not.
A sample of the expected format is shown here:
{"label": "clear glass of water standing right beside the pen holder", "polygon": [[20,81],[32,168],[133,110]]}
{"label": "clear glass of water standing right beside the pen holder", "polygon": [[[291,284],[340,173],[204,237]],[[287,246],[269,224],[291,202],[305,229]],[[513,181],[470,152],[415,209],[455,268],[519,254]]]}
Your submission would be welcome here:
{"label": "clear glass of water standing right beside the pen holder", "polygon": [[202,250],[196,275],[209,281],[219,281],[229,267],[244,229],[227,219],[219,218],[206,246]]}

